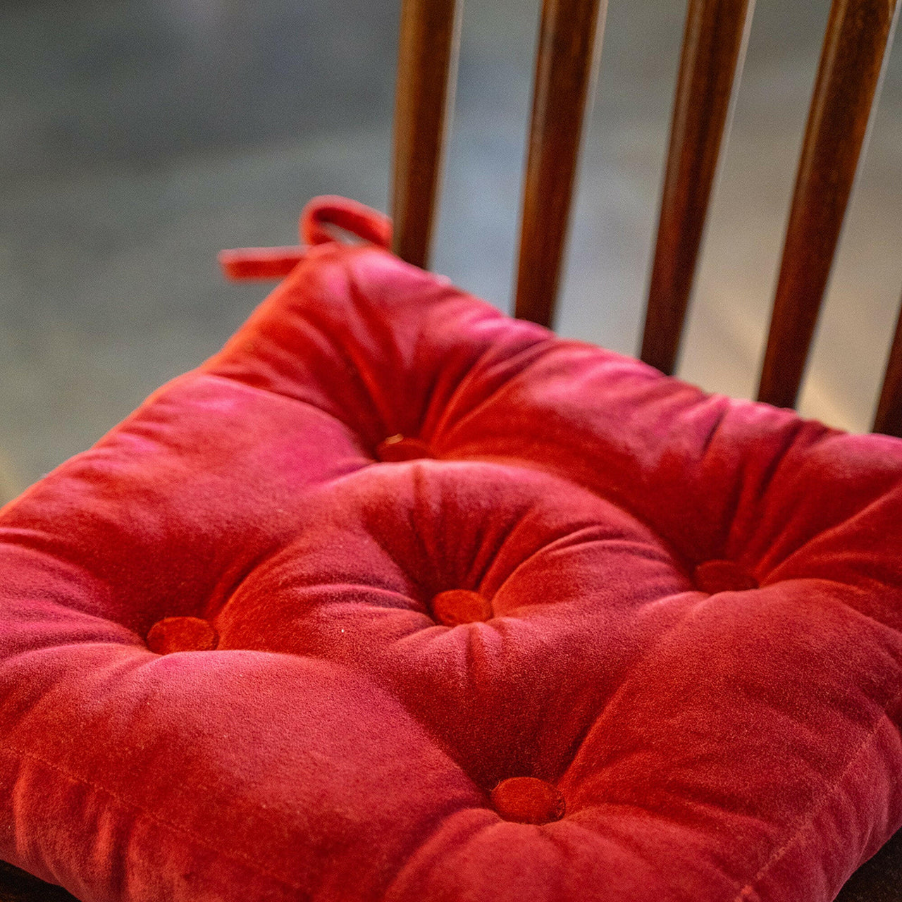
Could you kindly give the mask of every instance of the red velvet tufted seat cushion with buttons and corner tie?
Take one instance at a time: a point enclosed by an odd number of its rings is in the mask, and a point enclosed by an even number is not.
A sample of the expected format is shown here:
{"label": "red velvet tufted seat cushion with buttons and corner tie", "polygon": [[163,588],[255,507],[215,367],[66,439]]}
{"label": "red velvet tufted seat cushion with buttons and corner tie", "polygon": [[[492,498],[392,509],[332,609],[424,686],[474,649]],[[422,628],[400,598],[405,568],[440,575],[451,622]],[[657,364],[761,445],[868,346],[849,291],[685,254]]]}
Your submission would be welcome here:
{"label": "red velvet tufted seat cushion with buttons and corner tie", "polygon": [[0,858],[84,902],[833,899],[902,824],[902,442],[511,320],[359,207],[306,235],[0,516]]}

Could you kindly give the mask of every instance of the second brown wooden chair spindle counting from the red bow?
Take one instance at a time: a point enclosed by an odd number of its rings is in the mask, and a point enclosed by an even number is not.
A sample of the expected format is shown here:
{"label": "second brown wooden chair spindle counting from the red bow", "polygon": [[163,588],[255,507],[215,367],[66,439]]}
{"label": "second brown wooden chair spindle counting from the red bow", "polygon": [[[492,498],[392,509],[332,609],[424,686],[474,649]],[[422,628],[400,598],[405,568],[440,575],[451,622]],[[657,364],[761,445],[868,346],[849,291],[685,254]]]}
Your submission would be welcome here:
{"label": "second brown wooden chair spindle counting from the red bow", "polygon": [[516,315],[550,326],[606,0],[544,0],[523,186]]}

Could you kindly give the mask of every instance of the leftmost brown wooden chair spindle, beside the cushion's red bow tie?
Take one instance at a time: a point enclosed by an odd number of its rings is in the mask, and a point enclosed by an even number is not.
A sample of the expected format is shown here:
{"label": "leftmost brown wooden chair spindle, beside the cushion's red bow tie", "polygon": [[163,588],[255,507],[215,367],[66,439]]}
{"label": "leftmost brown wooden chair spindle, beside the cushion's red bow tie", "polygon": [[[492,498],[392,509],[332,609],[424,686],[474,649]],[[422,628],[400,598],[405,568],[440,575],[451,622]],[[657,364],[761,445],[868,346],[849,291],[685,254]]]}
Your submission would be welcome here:
{"label": "leftmost brown wooden chair spindle, beside the cushion's red bow tie", "polygon": [[456,0],[403,0],[395,93],[392,250],[426,267],[454,105],[460,9]]}

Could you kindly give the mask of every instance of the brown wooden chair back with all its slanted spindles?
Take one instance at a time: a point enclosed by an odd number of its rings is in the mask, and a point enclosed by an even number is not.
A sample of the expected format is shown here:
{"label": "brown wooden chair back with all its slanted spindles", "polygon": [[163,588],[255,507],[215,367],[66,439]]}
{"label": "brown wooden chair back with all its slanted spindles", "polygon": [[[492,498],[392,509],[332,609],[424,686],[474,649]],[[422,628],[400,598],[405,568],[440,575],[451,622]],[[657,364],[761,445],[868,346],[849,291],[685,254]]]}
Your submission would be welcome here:
{"label": "brown wooden chair back with all its slanted spindles", "polygon": [[[896,0],[833,0],[805,127],[758,398],[794,407],[858,170]],[[523,186],[516,315],[554,320],[606,0],[543,0]],[[688,0],[640,357],[673,373],[750,0]],[[453,105],[461,3],[402,0],[392,177],[394,250],[428,265]],[[902,312],[874,431],[902,436]]]}

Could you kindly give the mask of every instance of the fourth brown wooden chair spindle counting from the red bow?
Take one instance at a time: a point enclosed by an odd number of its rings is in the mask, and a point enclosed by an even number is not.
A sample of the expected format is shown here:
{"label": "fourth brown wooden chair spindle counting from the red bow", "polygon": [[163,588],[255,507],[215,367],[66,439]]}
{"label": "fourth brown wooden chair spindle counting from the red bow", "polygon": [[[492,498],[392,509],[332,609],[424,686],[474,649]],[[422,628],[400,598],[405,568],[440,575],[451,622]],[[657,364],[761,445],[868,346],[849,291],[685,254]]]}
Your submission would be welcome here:
{"label": "fourth brown wooden chair spindle counting from the red bow", "polygon": [[796,404],[896,0],[833,0],[789,211],[759,400]]}

